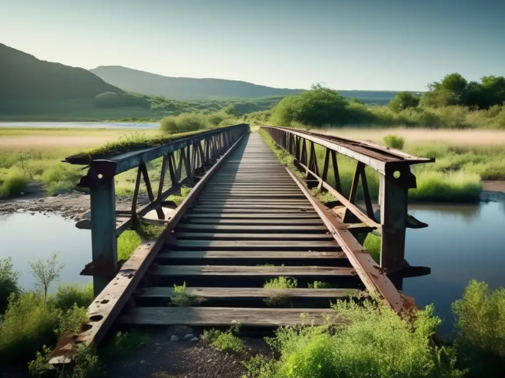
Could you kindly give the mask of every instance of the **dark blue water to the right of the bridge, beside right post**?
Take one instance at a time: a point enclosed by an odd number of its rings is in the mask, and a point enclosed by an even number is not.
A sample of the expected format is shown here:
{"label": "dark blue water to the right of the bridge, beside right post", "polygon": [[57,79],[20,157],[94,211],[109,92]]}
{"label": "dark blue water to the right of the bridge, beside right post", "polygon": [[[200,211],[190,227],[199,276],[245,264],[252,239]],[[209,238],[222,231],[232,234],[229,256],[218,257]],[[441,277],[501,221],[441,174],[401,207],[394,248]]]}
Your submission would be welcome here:
{"label": "dark blue water to the right of the bridge, beside right post", "polygon": [[428,228],[407,230],[406,259],[427,266],[431,274],[403,280],[403,291],[425,306],[435,304],[447,335],[453,324],[450,305],[471,279],[491,289],[505,286],[505,203],[411,205],[409,213]]}

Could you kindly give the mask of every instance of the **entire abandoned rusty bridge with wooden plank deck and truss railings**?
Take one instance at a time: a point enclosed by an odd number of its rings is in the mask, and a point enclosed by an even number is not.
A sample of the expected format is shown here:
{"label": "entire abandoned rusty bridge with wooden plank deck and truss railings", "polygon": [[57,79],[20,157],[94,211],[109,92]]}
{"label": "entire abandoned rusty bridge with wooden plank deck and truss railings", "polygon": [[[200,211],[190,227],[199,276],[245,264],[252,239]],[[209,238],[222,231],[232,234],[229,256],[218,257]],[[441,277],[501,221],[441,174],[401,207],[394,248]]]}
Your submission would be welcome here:
{"label": "entire abandoned rusty bridge with wooden plank deck and truss railings", "polygon": [[[89,323],[60,339],[51,363],[69,361],[77,343],[98,344],[116,324],[274,328],[300,323],[300,313],[320,324],[330,300],[363,291],[397,312],[415,306],[401,293],[402,279],[429,269],[405,260],[406,228],[427,226],[407,212],[409,188],[416,186],[410,166],[433,160],[364,141],[262,129],[292,156],[295,169],[283,166],[247,124],[102,159],[67,158],[89,166],[80,185],[90,190],[92,261],[81,274],[93,277],[95,300]],[[317,151],[324,152],[319,161]],[[339,156],[356,162],[347,196]],[[155,159],[162,159],[157,193],[147,169]],[[375,211],[365,167],[380,177]],[[129,169],[137,169],[131,210],[116,211],[115,176]],[[142,180],[149,203],[137,206]],[[192,190],[176,207],[167,198],[182,186]],[[314,188],[335,201],[322,204]],[[142,242],[120,266],[117,237],[149,212],[164,231]],[[381,236],[380,263],[360,244],[369,232]],[[298,287],[263,287],[278,277],[294,278]],[[309,288],[313,281],[333,288]],[[184,282],[197,300],[176,306],[174,285]],[[279,295],[289,303],[268,305],[266,299]]]}

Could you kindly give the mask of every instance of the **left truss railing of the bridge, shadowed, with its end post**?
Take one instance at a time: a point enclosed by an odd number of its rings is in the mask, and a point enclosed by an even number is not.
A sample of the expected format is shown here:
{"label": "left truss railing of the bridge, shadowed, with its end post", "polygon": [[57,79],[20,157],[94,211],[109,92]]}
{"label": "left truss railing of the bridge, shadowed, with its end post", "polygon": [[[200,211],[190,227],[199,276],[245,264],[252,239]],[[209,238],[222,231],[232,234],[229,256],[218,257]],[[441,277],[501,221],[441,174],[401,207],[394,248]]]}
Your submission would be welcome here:
{"label": "left truss railing of the bridge, shadowed, with its end post", "polygon": [[[170,205],[165,199],[178,193],[182,185],[194,186],[216,159],[248,130],[247,124],[237,124],[202,132],[163,146],[89,162],[89,170],[81,178],[79,186],[90,189],[92,262],[86,265],[81,275],[93,276],[95,296],[118,272],[116,237],[123,231],[134,228],[138,217],[151,210],[156,210],[158,218],[164,220],[162,206]],[[157,158],[163,158],[163,162],[155,196],[146,164]],[[66,161],[72,164],[86,163],[81,157],[69,157]],[[137,177],[131,209],[116,211],[114,176],[134,168],[137,168]],[[149,203],[138,207],[142,180]],[[169,187],[165,187],[166,181],[170,182]]]}

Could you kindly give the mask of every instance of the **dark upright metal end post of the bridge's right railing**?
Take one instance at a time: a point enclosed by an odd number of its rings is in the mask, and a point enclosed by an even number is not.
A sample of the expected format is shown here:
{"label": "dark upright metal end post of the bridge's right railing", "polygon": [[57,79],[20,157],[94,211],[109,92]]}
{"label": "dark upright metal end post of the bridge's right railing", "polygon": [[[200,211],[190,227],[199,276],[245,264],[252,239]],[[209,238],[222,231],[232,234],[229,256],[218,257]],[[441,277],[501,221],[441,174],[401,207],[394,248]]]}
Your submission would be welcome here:
{"label": "dark upright metal end post of the bridge's right railing", "polygon": [[382,239],[380,266],[392,272],[405,264],[409,167],[386,166],[380,175],[379,204]]}

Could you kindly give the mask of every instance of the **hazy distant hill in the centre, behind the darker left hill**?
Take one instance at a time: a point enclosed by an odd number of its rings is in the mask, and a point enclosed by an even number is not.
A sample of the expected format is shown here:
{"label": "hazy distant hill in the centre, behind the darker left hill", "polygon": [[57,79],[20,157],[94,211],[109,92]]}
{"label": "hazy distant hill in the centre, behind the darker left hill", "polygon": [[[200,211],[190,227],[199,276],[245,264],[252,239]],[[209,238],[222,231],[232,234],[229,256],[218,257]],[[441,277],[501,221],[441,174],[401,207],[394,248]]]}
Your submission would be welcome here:
{"label": "hazy distant hill in the centre, behind the darker left hill", "polygon": [[90,71],[107,83],[125,91],[164,96],[175,100],[282,96],[301,91],[301,89],[265,87],[236,80],[175,78],[122,66],[99,66]]}

